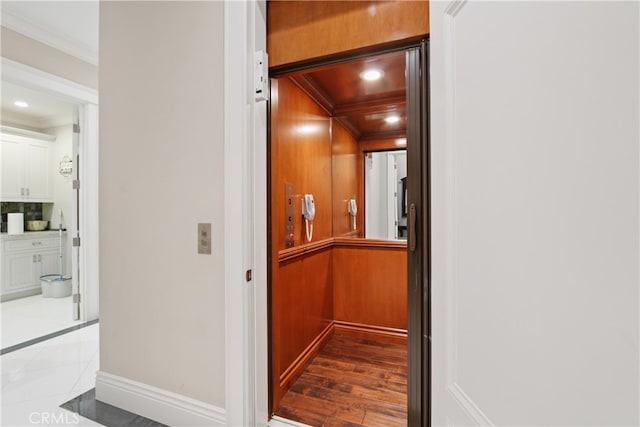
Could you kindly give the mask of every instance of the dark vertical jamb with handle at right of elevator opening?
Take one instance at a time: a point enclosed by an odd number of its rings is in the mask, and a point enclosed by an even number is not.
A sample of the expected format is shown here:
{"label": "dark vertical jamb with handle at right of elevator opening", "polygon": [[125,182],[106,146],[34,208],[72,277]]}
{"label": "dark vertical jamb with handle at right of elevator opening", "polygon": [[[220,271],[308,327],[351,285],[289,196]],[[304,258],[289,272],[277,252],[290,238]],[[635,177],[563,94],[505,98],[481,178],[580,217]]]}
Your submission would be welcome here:
{"label": "dark vertical jamb with handle at right of elevator opening", "polygon": [[[429,42],[407,49],[408,425],[431,425]],[[416,185],[417,183],[417,185]]]}

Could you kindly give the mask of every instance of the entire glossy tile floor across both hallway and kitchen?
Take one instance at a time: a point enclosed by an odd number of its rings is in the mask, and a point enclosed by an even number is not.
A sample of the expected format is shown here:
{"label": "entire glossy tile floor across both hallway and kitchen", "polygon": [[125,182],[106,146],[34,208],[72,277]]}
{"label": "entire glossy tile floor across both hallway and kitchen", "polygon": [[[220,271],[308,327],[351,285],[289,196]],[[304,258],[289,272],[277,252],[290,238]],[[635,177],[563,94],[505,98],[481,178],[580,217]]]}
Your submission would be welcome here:
{"label": "entire glossy tile floor across both hallway and kitchen", "polygon": [[[9,349],[0,356],[0,426],[161,426],[95,400],[99,325],[83,327],[83,321],[71,320],[71,297],[36,295],[3,302],[0,315],[1,348]],[[80,329],[44,337],[74,326]],[[45,339],[25,343],[40,337]],[[9,348],[21,343],[27,345]],[[270,425],[303,424],[276,417]]]}

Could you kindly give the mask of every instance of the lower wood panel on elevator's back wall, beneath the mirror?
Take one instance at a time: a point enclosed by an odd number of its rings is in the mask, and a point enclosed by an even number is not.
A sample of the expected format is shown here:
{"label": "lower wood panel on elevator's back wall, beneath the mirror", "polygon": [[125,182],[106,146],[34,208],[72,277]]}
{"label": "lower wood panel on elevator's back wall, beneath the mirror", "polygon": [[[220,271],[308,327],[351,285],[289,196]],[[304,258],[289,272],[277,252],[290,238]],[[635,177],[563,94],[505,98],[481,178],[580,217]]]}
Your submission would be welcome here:
{"label": "lower wood panel on elevator's back wall, beneath the mirror", "polygon": [[407,330],[407,247],[354,239],[334,244],[334,319]]}

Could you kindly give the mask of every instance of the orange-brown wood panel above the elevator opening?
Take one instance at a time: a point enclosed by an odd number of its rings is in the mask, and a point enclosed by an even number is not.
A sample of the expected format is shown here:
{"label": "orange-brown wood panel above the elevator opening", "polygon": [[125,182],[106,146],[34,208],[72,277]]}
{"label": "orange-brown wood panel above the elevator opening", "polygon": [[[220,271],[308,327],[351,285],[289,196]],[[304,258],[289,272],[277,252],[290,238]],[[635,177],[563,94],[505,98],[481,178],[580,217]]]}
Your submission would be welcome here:
{"label": "orange-brown wood panel above the elevator opening", "polygon": [[267,3],[271,67],[417,39],[428,33],[428,1]]}

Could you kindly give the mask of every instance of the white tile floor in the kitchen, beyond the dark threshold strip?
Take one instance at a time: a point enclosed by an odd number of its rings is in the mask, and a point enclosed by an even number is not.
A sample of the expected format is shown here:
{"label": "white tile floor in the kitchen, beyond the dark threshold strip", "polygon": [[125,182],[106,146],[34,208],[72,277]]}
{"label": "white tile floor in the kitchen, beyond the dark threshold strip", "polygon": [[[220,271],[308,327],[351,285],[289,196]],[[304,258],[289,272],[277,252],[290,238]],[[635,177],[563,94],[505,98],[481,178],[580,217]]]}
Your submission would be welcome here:
{"label": "white tile floor in the kitchen, beyond the dark threshold strip", "polygon": [[34,295],[5,301],[0,304],[0,317],[0,348],[83,323],[72,319],[71,297],[43,298],[42,295]]}

